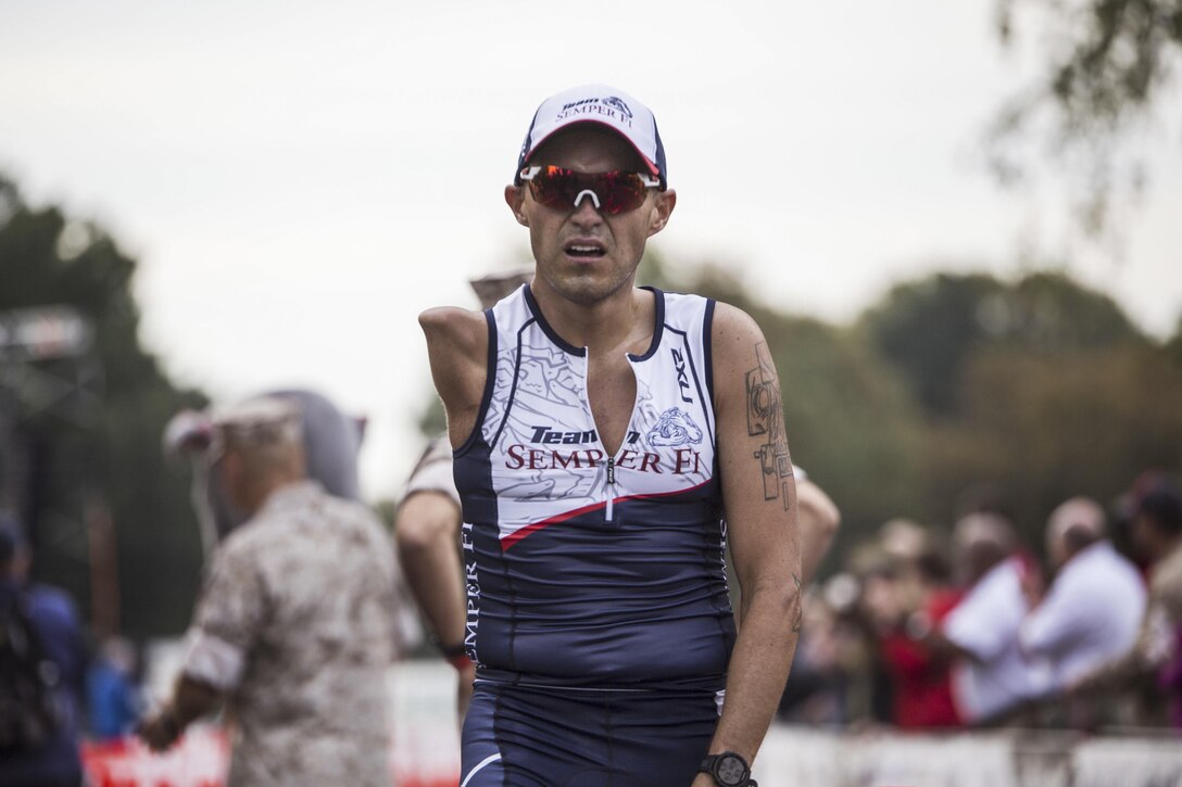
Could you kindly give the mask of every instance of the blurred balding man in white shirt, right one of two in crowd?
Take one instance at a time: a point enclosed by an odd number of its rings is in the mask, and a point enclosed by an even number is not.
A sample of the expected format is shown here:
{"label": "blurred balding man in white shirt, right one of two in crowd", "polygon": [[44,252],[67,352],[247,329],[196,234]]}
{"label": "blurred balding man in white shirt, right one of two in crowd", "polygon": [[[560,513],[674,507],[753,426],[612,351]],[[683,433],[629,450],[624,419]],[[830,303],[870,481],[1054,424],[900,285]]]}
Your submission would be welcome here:
{"label": "blurred balding man in white shirt, right one of two in crowd", "polygon": [[1095,500],[1072,497],[1056,508],[1046,546],[1056,578],[1041,599],[1032,598],[1019,642],[1027,658],[1046,659],[1047,689],[1059,691],[1134,645],[1145,586],[1104,538],[1104,509]]}

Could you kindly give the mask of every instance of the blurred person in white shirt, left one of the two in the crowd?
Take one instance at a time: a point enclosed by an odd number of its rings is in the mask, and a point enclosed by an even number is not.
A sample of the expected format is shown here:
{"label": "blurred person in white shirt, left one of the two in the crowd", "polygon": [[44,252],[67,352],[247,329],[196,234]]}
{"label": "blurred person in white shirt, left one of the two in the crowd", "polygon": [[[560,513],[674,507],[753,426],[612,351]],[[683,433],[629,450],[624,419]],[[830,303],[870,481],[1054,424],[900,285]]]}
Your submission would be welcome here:
{"label": "blurred person in white shirt, left one of the two in the crowd", "polygon": [[1017,548],[1013,526],[999,514],[965,516],[954,539],[969,587],[931,644],[955,659],[952,684],[957,714],[966,724],[981,726],[998,721],[1038,689],[1018,646],[1018,629],[1027,612],[1022,585],[1032,568]]}

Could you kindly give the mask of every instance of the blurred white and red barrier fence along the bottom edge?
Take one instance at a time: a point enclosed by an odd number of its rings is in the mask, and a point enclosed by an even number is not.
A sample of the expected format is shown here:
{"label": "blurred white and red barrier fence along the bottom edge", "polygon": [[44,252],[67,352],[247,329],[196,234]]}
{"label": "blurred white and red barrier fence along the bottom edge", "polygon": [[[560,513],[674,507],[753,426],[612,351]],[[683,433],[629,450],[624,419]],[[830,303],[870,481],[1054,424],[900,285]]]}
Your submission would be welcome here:
{"label": "blurred white and red barrier fence along the bottom edge", "polygon": [[[455,671],[442,662],[391,670],[391,781],[456,785]],[[137,742],[87,747],[96,787],[220,787],[227,748],[197,727],[154,756]],[[760,787],[1182,787],[1182,739],[1150,731],[1084,736],[1056,730],[921,735],[774,726],[755,763]],[[658,780],[654,787],[661,787]]]}

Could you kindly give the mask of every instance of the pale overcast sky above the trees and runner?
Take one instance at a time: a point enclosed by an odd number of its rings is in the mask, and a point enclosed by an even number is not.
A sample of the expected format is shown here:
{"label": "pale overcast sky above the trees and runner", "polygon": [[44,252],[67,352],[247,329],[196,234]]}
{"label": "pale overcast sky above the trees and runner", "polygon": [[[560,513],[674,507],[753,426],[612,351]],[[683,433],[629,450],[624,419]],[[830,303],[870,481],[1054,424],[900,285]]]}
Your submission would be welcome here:
{"label": "pale overcast sky above the trees and runner", "polygon": [[678,203],[654,247],[769,303],[844,321],[934,269],[1070,261],[1169,333],[1178,113],[1145,147],[1121,254],[1080,245],[1061,188],[985,169],[983,129],[1033,63],[992,11],[0,0],[0,169],[138,259],[143,338],[174,377],[223,402],[325,392],[370,418],[363,483],[394,495],[430,391],[415,316],[474,306],[469,278],[526,259],[501,191],[538,103],[577,84],[656,113]]}

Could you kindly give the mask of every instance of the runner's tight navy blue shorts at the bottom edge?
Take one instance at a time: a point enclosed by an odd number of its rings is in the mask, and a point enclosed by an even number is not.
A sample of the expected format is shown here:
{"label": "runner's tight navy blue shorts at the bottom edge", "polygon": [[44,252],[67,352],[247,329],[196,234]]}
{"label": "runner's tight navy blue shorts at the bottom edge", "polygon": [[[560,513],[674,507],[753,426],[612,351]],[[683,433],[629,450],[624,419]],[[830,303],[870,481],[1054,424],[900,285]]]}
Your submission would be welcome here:
{"label": "runner's tight navy blue shorts at the bottom edge", "polygon": [[476,684],[461,787],[688,787],[719,707],[709,692]]}

